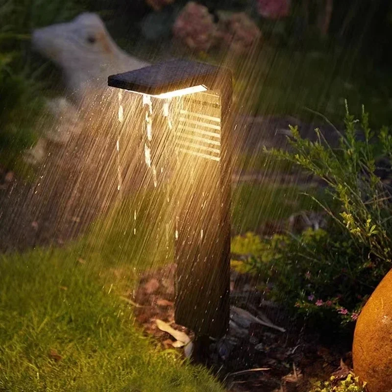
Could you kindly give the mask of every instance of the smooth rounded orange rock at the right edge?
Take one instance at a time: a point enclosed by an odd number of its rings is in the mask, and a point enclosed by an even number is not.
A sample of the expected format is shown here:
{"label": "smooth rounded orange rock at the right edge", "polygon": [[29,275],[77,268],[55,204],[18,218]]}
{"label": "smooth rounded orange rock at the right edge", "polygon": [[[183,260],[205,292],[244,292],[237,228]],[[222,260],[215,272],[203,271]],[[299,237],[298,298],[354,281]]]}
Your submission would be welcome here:
{"label": "smooth rounded orange rock at the right edge", "polygon": [[364,306],[355,327],[354,372],[369,392],[392,392],[392,270]]}

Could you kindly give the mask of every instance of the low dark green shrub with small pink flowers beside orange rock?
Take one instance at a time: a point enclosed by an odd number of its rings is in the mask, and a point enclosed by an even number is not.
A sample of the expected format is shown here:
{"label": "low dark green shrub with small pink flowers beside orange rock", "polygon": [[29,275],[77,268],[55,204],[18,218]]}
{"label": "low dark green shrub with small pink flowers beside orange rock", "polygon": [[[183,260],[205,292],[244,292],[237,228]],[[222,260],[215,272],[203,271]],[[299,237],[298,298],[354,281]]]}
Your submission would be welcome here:
{"label": "low dark green shrub with small pink flowers beside orange rock", "polygon": [[267,239],[247,233],[233,239],[232,252],[250,254],[238,268],[258,274],[264,282],[260,289],[270,299],[309,321],[355,321],[380,280],[363,261],[368,248],[354,246],[338,232],[308,229],[298,237]]}

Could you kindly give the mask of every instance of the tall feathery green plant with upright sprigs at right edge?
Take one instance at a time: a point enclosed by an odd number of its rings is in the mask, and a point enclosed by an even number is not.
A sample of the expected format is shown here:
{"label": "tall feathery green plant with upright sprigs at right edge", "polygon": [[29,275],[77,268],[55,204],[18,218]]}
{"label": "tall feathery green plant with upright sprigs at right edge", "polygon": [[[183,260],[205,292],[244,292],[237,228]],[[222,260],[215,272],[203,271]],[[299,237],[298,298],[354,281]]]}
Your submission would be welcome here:
{"label": "tall feathery green plant with upright sprigs at right edge", "polygon": [[[376,155],[371,143],[374,132],[369,127],[364,108],[361,120],[355,120],[348,112],[347,102],[344,123],[346,132],[340,137],[339,149],[332,149],[319,129],[315,130],[319,140],[313,143],[302,139],[297,127],[291,127],[294,152],[271,150],[270,153],[323,179],[340,208],[332,210],[322,201],[319,204],[338,226],[346,229],[356,245],[368,246],[369,261],[383,270],[389,269],[392,257],[392,240],[388,235],[392,228],[391,189],[375,174]],[[358,124],[364,141],[357,138]],[[392,135],[388,127],[382,127],[378,140],[384,155],[391,158]]]}

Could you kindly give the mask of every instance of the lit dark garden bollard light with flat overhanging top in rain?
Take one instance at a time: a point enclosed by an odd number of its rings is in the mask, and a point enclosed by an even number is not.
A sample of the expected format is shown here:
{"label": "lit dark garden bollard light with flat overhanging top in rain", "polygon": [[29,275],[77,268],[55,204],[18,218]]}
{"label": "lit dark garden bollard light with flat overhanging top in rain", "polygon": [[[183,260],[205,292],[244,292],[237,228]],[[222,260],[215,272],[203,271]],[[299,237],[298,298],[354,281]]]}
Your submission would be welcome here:
{"label": "lit dark garden bollard light with flat overhanging top in rain", "polygon": [[175,321],[220,338],[230,305],[231,72],[172,60],[111,75],[108,85],[142,95],[154,185],[164,168],[171,173]]}

